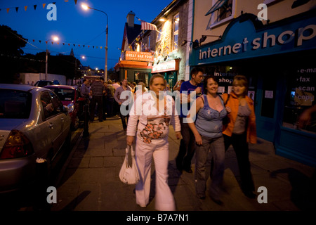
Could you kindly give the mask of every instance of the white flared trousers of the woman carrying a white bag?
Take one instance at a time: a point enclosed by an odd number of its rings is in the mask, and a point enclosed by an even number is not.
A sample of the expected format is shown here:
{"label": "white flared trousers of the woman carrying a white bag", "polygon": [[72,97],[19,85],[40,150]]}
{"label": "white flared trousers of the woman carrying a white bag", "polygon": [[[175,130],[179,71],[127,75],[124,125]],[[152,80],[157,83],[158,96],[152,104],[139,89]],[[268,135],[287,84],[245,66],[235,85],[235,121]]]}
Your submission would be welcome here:
{"label": "white flared trousers of the woman carrying a white bag", "polygon": [[136,184],[136,203],[145,207],[150,198],[152,157],[156,172],[155,208],[159,211],[176,210],[175,200],[168,185],[169,143],[167,139],[144,143],[136,139],[136,163],[140,181]]}

